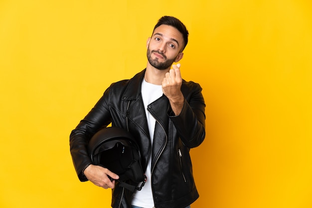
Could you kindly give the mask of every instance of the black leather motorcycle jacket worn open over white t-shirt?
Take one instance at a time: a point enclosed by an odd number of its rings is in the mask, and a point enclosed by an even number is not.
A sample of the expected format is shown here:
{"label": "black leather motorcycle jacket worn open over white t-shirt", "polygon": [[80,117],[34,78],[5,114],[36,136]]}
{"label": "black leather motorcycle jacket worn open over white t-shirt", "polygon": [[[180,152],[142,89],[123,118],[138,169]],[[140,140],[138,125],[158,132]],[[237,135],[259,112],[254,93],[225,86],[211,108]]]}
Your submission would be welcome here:
{"label": "black leather motorcycle jacket worn open over white t-shirt", "polygon": [[[138,140],[142,167],[146,170],[152,157],[152,190],[156,208],[184,208],[198,197],[195,187],[190,148],[205,138],[205,104],[201,87],[183,80],[184,105],[175,116],[163,95],[149,104],[156,118],[153,149],[141,96],[145,70],[130,80],[113,83],[92,110],[70,135],[70,151],[80,181],[87,181],[83,170],[92,164],[87,152],[90,138],[110,123],[130,131]],[[112,196],[113,208],[131,208],[133,193],[119,187]]]}

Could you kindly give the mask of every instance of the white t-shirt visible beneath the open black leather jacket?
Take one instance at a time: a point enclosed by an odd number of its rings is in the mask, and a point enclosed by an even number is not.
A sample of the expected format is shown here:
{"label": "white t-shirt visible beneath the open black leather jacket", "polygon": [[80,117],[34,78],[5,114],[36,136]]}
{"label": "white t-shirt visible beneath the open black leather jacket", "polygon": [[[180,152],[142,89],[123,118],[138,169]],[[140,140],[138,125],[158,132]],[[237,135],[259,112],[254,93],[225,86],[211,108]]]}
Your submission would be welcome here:
{"label": "white t-shirt visible beneath the open black leather jacket", "polygon": [[[153,145],[156,120],[147,109],[149,104],[156,101],[158,98],[162,96],[162,88],[161,85],[154,85],[143,80],[141,93],[145,107],[146,117],[148,120],[151,143]],[[148,167],[145,173],[145,175],[148,178],[146,184],[144,185],[141,191],[136,191],[136,193],[133,196],[132,205],[134,206],[142,208],[154,207],[154,199],[151,186],[151,161],[152,157],[150,157]]]}

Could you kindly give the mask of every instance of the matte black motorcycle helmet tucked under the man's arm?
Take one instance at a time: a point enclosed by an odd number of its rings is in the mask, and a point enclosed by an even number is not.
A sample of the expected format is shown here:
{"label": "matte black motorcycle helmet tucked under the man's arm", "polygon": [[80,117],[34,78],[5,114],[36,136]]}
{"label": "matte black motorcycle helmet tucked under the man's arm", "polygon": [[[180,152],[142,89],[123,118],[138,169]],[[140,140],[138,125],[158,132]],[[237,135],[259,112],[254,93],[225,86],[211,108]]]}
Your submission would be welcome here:
{"label": "matte black motorcycle helmet tucked under the man's arm", "polygon": [[[147,178],[142,170],[139,146],[130,132],[120,127],[103,128],[92,136],[88,151],[94,165],[105,167],[119,176],[121,187],[141,191]],[[132,186],[126,183],[129,180],[142,184]]]}

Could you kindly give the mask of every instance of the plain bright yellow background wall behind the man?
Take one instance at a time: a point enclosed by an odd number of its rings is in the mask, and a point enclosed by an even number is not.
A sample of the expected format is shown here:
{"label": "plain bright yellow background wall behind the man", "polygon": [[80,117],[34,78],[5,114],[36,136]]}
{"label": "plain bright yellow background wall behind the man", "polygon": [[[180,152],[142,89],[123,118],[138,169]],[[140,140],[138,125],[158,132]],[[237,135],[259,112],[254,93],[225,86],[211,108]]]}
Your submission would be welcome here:
{"label": "plain bright yellow background wall behind the man", "polygon": [[0,0],[1,208],[110,207],[69,134],[145,68],[162,15],[187,25],[182,77],[207,104],[192,208],[312,207],[311,0]]}

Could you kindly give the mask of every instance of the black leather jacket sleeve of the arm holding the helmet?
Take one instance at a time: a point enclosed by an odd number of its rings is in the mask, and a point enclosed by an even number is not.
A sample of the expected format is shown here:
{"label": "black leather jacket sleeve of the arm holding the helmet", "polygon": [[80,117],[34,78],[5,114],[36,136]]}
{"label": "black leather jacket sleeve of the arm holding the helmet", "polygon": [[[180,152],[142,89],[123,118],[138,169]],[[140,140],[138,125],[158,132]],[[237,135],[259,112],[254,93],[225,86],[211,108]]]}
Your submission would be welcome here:
{"label": "black leather jacket sleeve of the arm holding the helmet", "polygon": [[92,164],[88,153],[88,143],[91,137],[101,128],[111,123],[111,115],[108,107],[109,89],[95,104],[91,111],[72,130],[69,137],[70,153],[74,167],[80,181],[87,181],[83,171]]}

